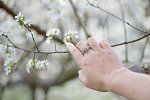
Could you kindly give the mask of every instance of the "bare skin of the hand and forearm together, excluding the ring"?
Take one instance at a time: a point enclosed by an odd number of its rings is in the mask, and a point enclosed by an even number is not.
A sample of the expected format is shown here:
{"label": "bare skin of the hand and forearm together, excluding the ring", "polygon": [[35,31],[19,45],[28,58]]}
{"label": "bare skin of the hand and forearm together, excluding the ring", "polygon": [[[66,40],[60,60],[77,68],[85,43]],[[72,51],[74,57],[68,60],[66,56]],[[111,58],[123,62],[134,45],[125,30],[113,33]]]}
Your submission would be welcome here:
{"label": "bare skin of the hand and forearm together, excluding the ring", "polygon": [[[79,49],[85,43],[91,49],[83,55]],[[79,79],[86,87],[115,92],[129,100],[150,100],[150,76],[125,68],[107,41],[98,44],[89,38],[76,46],[66,43],[66,47],[80,66]]]}

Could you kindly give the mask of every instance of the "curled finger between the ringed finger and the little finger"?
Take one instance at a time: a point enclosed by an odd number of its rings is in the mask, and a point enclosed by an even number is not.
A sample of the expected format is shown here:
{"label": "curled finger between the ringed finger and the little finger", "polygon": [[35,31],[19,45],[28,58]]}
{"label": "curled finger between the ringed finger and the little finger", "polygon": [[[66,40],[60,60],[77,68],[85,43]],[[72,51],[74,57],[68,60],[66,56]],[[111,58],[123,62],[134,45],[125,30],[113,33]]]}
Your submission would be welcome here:
{"label": "curled finger between the ringed finger and the little finger", "polygon": [[92,48],[92,50],[96,51],[96,50],[100,50],[101,49],[99,44],[93,38],[88,38],[87,44]]}

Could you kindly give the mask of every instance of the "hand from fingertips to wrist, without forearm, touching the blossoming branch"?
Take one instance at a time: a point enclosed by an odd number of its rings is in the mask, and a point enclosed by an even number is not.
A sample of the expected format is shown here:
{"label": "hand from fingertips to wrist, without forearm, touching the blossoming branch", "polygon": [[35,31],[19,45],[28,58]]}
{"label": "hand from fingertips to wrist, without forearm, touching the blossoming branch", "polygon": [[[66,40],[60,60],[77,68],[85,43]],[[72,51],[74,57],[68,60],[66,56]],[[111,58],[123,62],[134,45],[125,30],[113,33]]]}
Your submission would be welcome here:
{"label": "hand from fingertips to wrist, without forearm, touching the blossoming branch", "polygon": [[[91,47],[84,55],[78,48],[84,44]],[[66,44],[68,50],[79,64],[79,79],[88,88],[98,91],[110,91],[111,80],[115,72],[121,70],[122,63],[110,44],[105,40],[99,44],[89,38],[87,41],[80,41],[74,46],[71,43]]]}

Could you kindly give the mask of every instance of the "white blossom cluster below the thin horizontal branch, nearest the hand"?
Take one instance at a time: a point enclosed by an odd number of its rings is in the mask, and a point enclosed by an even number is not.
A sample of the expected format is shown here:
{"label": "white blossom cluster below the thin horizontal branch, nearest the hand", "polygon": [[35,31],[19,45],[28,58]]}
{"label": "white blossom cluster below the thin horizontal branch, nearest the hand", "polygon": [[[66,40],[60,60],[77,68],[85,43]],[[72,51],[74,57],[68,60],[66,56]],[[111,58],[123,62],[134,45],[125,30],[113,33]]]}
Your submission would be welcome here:
{"label": "white blossom cluster below the thin horizontal branch, nearest the hand", "polygon": [[46,69],[49,65],[47,59],[46,60],[37,60],[37,59],[30,59],[26,64],[26,71],[27,73],[31,72],[31,69]]}

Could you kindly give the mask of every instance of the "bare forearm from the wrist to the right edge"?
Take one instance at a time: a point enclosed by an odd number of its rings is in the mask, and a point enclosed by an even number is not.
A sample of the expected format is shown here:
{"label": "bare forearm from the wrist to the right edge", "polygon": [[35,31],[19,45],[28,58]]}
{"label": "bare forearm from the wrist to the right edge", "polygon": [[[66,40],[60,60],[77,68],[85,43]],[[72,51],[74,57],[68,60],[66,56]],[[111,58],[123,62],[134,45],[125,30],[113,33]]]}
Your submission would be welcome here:
{"label": "bare forearm from the wrist to the right edge", "polygon": [[111,91],[130,100],[150,100],[150,76],[123,69],[112,79]]}

